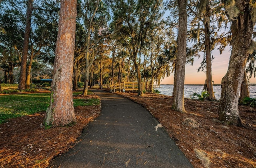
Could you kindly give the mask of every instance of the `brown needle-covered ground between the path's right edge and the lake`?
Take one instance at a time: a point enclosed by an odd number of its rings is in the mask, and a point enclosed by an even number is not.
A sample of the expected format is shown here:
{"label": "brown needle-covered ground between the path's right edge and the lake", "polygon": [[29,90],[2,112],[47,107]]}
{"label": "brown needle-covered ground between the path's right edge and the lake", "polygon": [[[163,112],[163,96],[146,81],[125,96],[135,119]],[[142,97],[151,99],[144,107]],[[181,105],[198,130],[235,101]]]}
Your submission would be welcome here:
{"label": "brown needle-covered ground between the path's right edge and the lake", "polygon": [[182,114],[171,109],[170,96],[119,94],[150,111],[195,168],[256,168],[255,108],[239,106],[243,128],[218,121],[218,102],[185,99]]}

